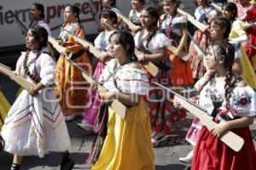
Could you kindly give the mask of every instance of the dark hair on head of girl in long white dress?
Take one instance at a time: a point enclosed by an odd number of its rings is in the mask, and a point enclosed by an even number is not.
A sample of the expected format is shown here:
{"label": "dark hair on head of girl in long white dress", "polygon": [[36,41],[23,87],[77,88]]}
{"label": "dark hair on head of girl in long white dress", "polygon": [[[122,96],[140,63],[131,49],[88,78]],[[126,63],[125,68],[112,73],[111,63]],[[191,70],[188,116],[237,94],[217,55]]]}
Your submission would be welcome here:
{"label": "dark hair on head of girl in long white dress", "polygon": [[[39,42],[39,50],[47,46],[48,32],[43,26],[32,26],[30,28],[35,41]],[[41,41],[43,38],[43,41]]]}

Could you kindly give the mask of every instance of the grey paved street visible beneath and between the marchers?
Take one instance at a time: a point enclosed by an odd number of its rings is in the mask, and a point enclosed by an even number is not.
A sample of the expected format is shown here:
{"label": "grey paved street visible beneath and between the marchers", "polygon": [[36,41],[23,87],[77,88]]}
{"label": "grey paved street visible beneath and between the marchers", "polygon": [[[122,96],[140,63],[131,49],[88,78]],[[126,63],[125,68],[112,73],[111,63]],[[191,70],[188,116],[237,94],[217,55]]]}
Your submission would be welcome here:
{"label": "grey paved street visible beneath and between the marchers", "polygon": [[[11,65],[14,67],[14,65]],[[18,86],[15,82],[12,82],[7,77],[0,75],[0,85],[3,93],[7,96],[9,101],[13,103],[15,101],[15,94],[18,90]],[[193,116],[188,115],[187,119],[174,124],[172,135],[170,136],[169,143],[160,145],[154,148],[155,152],[155,167],[157,170],[182,170],[186,169],[187,165],[177,160],[179,156],[185,156],[191,145],[185,140],[185,134],[189,125],[193,120]],[[77,118],[73,122],[68,122],[67,127],[72,141],[71,157],[75,161],[75,167],[73,169],[90,169],[89,164],[85,164],[84,161],[90,152],[90,146],[94,135],[84,133],[80,130],[76,123],[80,122],[81,118]],[[253,139],[256,140],[256,125],[253,123],[252,133]],[[0,153],[0,169],[9,170],[12,163],[12,155],[2,152]],[[21,170],[55,170],[60,169],[61,163],[60,153],[49,153],[44,158],[40,159],[38,156],[26,157],[22,163]]]}

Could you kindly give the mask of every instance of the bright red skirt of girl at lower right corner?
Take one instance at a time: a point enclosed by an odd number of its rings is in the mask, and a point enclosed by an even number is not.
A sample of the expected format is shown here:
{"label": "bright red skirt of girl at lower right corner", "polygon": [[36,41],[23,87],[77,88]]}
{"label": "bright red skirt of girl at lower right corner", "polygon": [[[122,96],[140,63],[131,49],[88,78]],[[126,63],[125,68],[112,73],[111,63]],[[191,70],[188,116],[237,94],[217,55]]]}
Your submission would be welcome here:
{"label": "bright red skirt of girl at lower right corner", "polygon": [[256,152],[250,129],[236,128],[232,132],[245,140],[239,152],[231,150],[220,139],[214,137],[207,127],[203,127],[195,145],[191,169],[255,170]]}

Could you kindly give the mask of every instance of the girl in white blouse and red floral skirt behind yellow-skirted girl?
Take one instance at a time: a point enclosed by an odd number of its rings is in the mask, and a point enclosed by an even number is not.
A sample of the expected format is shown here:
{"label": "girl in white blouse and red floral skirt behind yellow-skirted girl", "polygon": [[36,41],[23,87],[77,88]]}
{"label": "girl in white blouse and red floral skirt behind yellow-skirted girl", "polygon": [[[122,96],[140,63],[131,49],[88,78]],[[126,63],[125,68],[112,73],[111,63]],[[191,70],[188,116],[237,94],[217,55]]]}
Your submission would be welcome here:
{"label": "girl in white blouse and red floral skirt behind yellow-skirted girl", "polygon": [[[171,102],[167,99],[166,91],[156,88],[152,81],[163,83],[166,87],[171,86],[171,65],[166,62],[166,46],[171,45],[171,41],[165,34],[157,28],[159,15],[153,7],[144,8],[141,14],[140,22],[142,31],[137,32],[135,45],[141,54],[137,54],[139,61],[150,61],[158,65],[159,73],[152,77],[148,73],[151,88],[148,92],[148,106],[150,107],[151,127],[153,128],[152,142],[160,144],[167,141],[167,135],[172,130],[172,110]],[[170,61],[170,59],[169,59]]]}

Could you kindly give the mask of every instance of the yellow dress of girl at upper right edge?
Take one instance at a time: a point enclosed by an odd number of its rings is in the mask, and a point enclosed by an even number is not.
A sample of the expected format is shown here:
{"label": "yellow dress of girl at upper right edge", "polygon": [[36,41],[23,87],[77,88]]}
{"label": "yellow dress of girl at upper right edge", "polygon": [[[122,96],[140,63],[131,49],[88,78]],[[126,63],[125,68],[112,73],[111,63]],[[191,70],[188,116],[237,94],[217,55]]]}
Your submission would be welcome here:
{"label": "yellow dress of girl at upper right edge", "polygon": [[[230,38],[240,37],[245,34],[246,34],[246,31],[242,29],[241,20],[235,20],[232,24],[232,28],[230,31]],[[240,50],[241,50],[240,61],[241,61],[241,68],[242,68],[241,77],[244,79],[244,81],[247,82],[249,86],[251,86],[252,88],[256,88],[256,75],[253,69],[253,65],[248,59],[247,54],[245,53],[245,50],[242,47],[240,47]]]}

